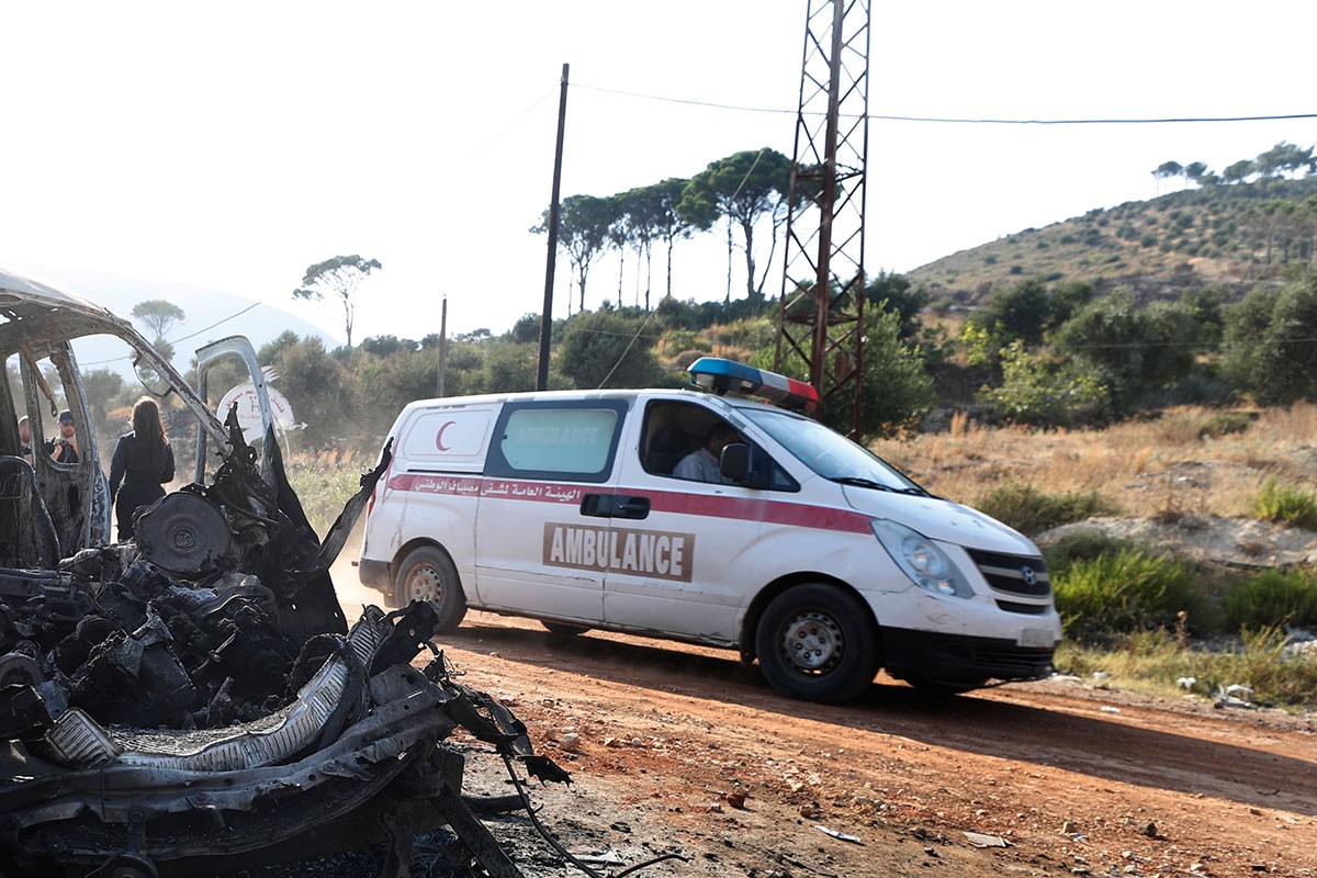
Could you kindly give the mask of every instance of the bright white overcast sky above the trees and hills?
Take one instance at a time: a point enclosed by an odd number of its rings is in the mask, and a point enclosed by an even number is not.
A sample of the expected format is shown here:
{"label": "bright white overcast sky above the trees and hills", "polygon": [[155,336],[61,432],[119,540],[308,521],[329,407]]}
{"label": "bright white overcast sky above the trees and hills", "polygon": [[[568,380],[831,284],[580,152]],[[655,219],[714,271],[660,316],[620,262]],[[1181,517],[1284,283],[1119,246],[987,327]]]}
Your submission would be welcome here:
{"label": "bright white overcast sky above the trees and hills", "polygon": [[[873,115],[1010,118],[1317,111],[1309,0],[873,0]],[[539,312],[558,79],[562,195],[611,195],[794,142],[805,0],[17,3],[0,0],[0,265],[200,284],[295,308],[308,265],[383,263],[354,337],[508,328]],[[785,113],[711,109],[608,88]],[[874,121],[868,270],[1158,194],[1317,120],[992,126]],[[1172,183],[1171,186],[1177,186]],[[1167,184],[1163,183],[1163,191]],[[722,299],[718,234],[681,242],[680,299]],[[627,300],[636,286],[628,257]],[[661,255],[655,257],[661,294]],[[744,288],[739,274],[734,295]],[[556,316],[570,267],[560,258]],[[780,290],[770,275],[766,291]],[[95,297],[95,291],[84,291]],[[616,300],[599,262],[586,305]]]}

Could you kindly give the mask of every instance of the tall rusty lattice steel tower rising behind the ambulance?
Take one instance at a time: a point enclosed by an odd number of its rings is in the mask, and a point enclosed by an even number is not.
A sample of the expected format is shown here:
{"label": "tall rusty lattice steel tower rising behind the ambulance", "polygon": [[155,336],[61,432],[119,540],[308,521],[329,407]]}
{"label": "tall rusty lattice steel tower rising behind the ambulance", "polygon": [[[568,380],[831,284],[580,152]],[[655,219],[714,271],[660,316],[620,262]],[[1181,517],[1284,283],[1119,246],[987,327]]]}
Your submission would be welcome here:
{"label": "tall rusty lattice steel tower rising behind the ambulance", "polygon": [[869,0],[809,0],[776,369],[803,362],[852,433],[863,405],[868,118]]}

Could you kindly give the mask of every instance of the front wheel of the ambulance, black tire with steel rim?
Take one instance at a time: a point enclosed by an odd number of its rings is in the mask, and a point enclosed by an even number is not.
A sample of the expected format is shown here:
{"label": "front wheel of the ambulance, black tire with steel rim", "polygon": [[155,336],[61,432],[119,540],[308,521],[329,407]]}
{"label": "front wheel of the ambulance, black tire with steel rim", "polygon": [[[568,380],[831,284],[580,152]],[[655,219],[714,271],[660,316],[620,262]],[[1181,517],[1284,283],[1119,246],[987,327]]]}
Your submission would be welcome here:
{"label": "front wheel of the ambulance, black tire with steel rim", "polygon": [[807,583],[780,594],[759,620],[755,645],[764,679],[805,702],[848,702],[878,673],[869,609],[838,586]]}

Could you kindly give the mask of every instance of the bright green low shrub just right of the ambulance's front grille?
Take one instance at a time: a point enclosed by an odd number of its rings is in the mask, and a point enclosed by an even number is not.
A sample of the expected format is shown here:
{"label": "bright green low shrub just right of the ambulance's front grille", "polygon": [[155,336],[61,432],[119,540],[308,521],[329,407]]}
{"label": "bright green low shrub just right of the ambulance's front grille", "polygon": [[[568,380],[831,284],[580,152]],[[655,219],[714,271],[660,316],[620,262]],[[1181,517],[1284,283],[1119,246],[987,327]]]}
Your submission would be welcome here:
{"label": "bright green low shrub just right of the ambulance's front grille", "polygon": [[1085,642],[1171,629],[1198,608],[1193,578],[1180,562],[1133,549],[1076,559],[1052,577],[1052,588],[1065,633]]}

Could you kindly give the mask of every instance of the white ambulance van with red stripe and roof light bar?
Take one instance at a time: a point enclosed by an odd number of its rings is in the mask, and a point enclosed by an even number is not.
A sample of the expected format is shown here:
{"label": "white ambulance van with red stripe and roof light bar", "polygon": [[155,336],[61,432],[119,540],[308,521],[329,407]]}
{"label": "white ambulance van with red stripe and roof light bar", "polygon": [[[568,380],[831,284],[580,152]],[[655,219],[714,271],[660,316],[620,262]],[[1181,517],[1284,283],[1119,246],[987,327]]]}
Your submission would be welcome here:
{"label": "white ambulance van with red stripe and roof light bar", "polygon": [[[690,378],[411,403],[361,581],[435,602],[441,631],[475,607],[739,649],[814,702],[878,669],[944,691],[1050,671],[1062,625],[1033,542],[789,411],[809,384],[707,357]],[[674,474],[699,455],[716,480]]]}

